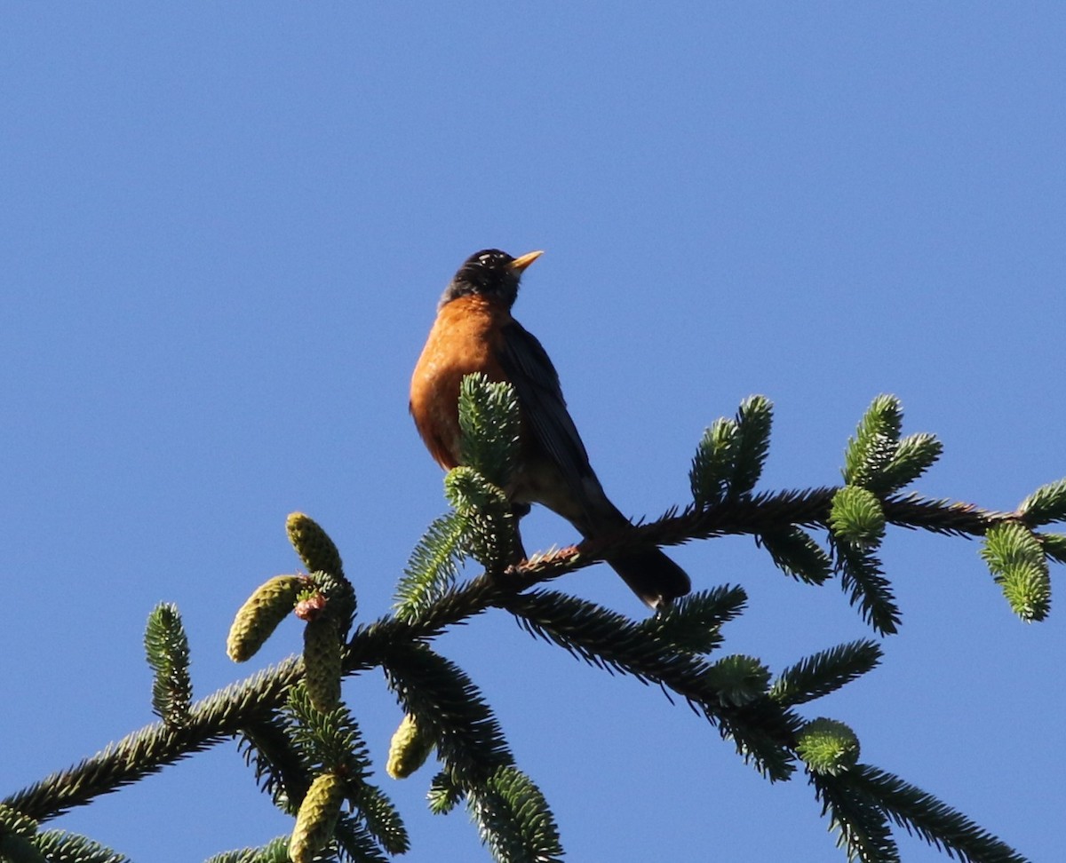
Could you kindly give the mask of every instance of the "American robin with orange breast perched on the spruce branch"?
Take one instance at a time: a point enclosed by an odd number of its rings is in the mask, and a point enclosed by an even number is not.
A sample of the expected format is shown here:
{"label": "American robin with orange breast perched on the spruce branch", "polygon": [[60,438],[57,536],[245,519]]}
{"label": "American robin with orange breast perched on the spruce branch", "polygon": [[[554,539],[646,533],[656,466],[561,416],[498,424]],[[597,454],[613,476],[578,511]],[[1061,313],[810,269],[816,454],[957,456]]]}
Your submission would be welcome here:
{"label": "American robin with orange breast perched on the spruce branch", "polygon": [[[437,320],[410,381],[410,412],[434,459],[459,463],[458,397],[465,375],[508,380],[521,412],[518,463],[507,499],[521,514],[538,503],[569,521],[586,539],[632,528],[608,500],[588,465],[566,410],[559,374],[548,354],[511,316],[518,281],[543,253],[512,258],[499,249],[472,255],[445,289]],[[652,608],[684,596],[689,576],[659,549],[608,558],[608,564]]]}

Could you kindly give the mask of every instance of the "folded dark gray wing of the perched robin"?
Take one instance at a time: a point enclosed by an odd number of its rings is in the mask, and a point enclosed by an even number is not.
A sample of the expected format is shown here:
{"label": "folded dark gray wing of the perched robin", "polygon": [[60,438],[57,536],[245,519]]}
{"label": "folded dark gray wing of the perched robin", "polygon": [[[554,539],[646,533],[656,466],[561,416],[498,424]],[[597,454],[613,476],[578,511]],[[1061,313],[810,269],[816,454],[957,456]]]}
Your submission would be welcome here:
{"label": "folded dark gray wing of the perched robin", "polygon": [[559,466],[575,499],[587,503],[585,482],[596,475],[574,420],[566,410],[559,374],[547,352],[521,324],[511,321],[503,328],[500,364],[515,387],[522,417],[544,455]]}

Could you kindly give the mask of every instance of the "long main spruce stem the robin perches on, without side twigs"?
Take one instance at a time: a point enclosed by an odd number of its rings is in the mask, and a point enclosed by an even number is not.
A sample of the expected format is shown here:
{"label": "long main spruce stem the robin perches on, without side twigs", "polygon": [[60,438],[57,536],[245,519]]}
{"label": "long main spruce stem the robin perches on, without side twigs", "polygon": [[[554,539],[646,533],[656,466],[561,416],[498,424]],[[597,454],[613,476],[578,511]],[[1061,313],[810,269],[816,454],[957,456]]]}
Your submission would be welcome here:
{"label": "long main spruce stem the robin perches on, without side twigs", "polygon": [[[344,672],[381,665],[393,645],[436,637],[448,626],[494,604],[504,605],[521,590],[591,566],[627,550],[632,543],[678,544],[727,534],[765,534],[789,524],[825,526],[835,493],[831,488],[763,492],[705,509],[690,507],[682,512],[669,512],[611,542],[585,541],[523,561],[499,577],[477,576],[461,587],[445,589],[427,598],[420,605],[417,617],[398,614],[357,629],[344,652]],[[956,535],[981,536],[989,527],[1015,518],[970,504],[927,500],[914,494],[889,498],[884,506],[888,523]],[[1054,541],[1044,540],[1056,548]],[[271,716],[302,675],[303,663],[298,658],[288,660],[197,702],[190,709],[188,722],[181,729],[168,729],[160,723],[135,731],[97,755],[11,795],[4,802],[38,820],[83,805],[100,794],[227,740],[251,723]]]}

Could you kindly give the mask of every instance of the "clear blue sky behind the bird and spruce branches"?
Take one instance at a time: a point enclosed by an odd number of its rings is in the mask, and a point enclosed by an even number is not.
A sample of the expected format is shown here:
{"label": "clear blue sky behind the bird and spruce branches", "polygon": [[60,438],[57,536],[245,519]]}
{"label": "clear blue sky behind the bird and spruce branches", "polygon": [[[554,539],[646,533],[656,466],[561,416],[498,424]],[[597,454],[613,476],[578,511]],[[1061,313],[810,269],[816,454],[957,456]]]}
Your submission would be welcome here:
{"label": "clear blue sky behind the bird and spruce branches", "polygon": [[[0,780],[151,720],[144,620],[176,602],[196,694],[254,668],[233,610],[334,536],[385,614],[445,507],[410,370],[470,253],[544,248],[516,315],[618,506],[688,495],[704,427],[763,393],[765,488],[839,482],[881,392],[936,433],[921,492],[1011,509],[1066,476],[1066,7],[1059,3],[56,4],[0,12]],[[565,544],[548,514],[529,549]],[[881,669],[808,714],[1033,860],[1066,835],[1061,608],[1011,615],[972,541],[889,533]],[[775,670],[868,630],[748,539],[725,650]],[[1053,570],[1061,583],[1061,568]],[[610,570],[560,583],[629,614]],[[296,650],[286,624],[252,666]],[[576,861],[843,860],[683,707],[488,615],[438,641],[483,688]],[[400,712],[345,684],[384,765]],[[487,859],[432,770],[378,775],[410,860]],[[288,829],[233,747],[56,823],[138,860]],[[908,861],[944,859],[904,836]]]}

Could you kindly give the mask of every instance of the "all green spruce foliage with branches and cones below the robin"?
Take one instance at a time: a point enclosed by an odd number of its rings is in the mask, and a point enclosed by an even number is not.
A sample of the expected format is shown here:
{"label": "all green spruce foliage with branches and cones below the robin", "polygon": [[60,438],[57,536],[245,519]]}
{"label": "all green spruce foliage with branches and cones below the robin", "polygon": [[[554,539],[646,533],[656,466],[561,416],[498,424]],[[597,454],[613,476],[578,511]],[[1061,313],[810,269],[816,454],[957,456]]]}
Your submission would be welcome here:
{"label": "all green spruce foliage with branches and cones below the robin", "polygon": [[[355,625],[355,591],[336,546],[313,520],[293,514],[287,531],[310,574],[277,576],[254,591],[237,614],[227,650],[236,661],[247,658],[294,610],[305,622],[303,656],[192,703],[180,616],[172,605],[158,606],[145,647],[155,673],[152,706],[162,721],[0,802],[0,857],[125,860],[83,836],[39,832],[37,823],[235,737],[254,781],[294,818],[293,830],[211,863],[386,861],[403,853],[410,844],[406,829],[371,781],[370,747],[342,698],[343,677],[381,668],[404,713],[389,775],[411,777],[435,753],[438,768],[427,795],[433,813],[465,802],[501,863],[561,860],[548,801],[516,764],[489,699],[431,646],[495,607],[581,662],[655,684],[671,701],[688,704],[769,780],[788,781],[801,768],[849,860],[898,861],[893,827],[962,861],[1023,860],[928,793],[859,763],[858,737],[844,722],[808,720],[796,712],[872,671],[884,658],[877,641],[827,647],[775,677],[758,656],[715,655],[724,646],[723,628],[746,609],[740,586],[707,587],[632,620],[546,585],[619,552],[745,534],[792,577],[821,585],[839,574],[863,619],[884,635],[901,623],[875,556],[893,525],[983,537],[982,555],[1010,605],[1037,621],[1050,610],[1049,561],[1066,563],[1066,536],[1034,528],[1066,520],[1066,481],[1037,489],[1010,514],[902,493],[936,461],[941,445],[924,433],[901,437],[900,403],[883,395],[847,443],[843,486],[756,491],[772,407],[753,396],[733,419],[704,434],[690,471],[691,506],[610,541],[522,559],[520,512],[502,491],[517,453],[514,392],[471,376],[459,407],[464,465],[445,481],[452,511],[433,522],[411,553],[392,614]],[[469,563],[474,571],[461,581]]]}

